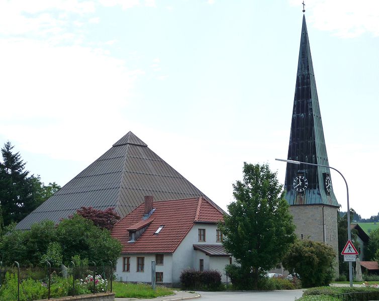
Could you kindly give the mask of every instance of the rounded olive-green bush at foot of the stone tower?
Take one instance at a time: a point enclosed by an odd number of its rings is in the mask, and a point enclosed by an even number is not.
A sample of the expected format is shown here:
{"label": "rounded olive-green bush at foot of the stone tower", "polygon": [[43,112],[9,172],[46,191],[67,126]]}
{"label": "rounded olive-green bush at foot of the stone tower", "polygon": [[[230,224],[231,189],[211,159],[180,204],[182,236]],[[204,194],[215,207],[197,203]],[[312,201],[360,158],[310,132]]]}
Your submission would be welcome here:
{"label": "rounded olive-green bush at foot of the stone tower", "polygon": [[325,243],[297,240],[283,257],[282,265],[299,276],[303,287],[329,285],[334,278],[335,252]]}

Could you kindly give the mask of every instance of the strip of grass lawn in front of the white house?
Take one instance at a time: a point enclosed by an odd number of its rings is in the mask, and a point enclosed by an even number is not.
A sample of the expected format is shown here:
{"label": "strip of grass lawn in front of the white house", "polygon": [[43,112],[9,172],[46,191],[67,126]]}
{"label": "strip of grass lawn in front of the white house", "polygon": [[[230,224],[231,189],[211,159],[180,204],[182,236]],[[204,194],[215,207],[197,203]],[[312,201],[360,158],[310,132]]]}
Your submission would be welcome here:
{"label": "strip of grass lawn in front of the white house", "polygon": [[134,284],[114,281],[112,290],[116,298],[155,298],[170,295],[174,292],[164,286],[157,285],[155,291],[148,284]]}

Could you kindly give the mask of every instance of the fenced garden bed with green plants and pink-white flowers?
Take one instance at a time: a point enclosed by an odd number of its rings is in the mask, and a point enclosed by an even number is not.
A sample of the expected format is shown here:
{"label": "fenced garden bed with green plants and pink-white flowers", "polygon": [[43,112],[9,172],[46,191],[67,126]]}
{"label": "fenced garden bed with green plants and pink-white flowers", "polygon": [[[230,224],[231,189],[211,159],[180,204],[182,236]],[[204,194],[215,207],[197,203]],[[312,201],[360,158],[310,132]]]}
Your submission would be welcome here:
{"label": "fenced garden bed with green plants and pink-white flowers", "polygon": [[[64,297],[85,293],[112,292],[114,277],[113,263],[97,265],[89,261],[88,265],[75,266],[71,261],[68,266],[52,266],[46,262],[42,267],[20,267],[15,261],[12,266],[5,266],[0,262],[0,285],[14,286],[17,283],[17,300],[35,300],[33,293],[28,291],[30,283],[41,283],[47,288],[47,296]],[[46,294],[46,292],[44,292]],[[34,293],[35,294],[35,293]]]}

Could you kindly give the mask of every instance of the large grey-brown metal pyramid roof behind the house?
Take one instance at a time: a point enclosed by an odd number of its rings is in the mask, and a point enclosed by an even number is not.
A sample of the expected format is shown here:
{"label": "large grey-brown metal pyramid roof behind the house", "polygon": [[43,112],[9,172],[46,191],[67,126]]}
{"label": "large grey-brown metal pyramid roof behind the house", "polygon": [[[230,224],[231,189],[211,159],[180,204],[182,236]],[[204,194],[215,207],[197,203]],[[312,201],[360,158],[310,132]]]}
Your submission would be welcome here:
{"label": "large grey-brown metal pyramid roof behind the house", "polygon": [[29,229],[33,223],[43,220],[59,222],[82,206],[101,210],[114,207],[123,218],[144,202],[145,195],[153,195],[156,200],[199,196],[210,200],[129,132],[23,219],[17,228]]}

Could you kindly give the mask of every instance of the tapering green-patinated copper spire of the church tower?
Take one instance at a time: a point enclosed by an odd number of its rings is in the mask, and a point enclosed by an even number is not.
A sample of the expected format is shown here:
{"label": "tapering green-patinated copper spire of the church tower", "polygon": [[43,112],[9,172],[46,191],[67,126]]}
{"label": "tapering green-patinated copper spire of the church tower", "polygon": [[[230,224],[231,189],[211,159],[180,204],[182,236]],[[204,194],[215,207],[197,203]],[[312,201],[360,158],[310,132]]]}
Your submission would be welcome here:
{"label": "tapering green-patinated copper spire of the church tower", "polygon": [[[329,165],[305,16],[300,40],[288,159]],[[304,194],[298,194],[293,187],[294,178],[299,172],[304,172],[308,179]],[[330,195],[326,193],[325,173],[330,175],[329,168],[288,163],[285,180],[287,202],[290,205],[324,204],[339,207],[333,189]]]}

